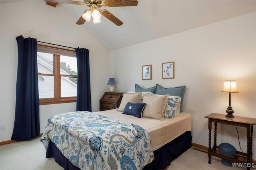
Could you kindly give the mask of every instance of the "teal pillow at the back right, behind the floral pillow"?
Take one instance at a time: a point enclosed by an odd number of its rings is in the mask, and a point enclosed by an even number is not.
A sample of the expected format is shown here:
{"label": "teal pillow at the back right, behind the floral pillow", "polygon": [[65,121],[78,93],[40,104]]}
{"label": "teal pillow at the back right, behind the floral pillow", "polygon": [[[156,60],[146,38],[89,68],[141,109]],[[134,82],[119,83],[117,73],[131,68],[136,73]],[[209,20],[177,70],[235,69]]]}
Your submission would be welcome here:
{"label": "teal pillow at the back right, behind the floral pillow", "polygon": [[186,86],[163,88],[159,84],[156,84],[156,94],[161,94],[161,95],[170,94],[170,96],[180,96],[181,97],[180,105],[182,105],[182,100],[183,100],[185,90],[186,90]]}

